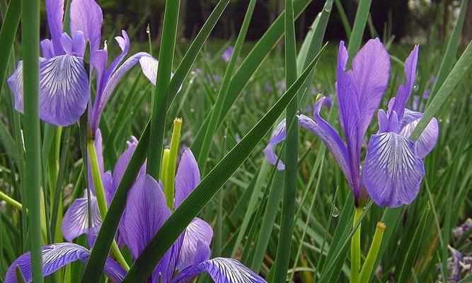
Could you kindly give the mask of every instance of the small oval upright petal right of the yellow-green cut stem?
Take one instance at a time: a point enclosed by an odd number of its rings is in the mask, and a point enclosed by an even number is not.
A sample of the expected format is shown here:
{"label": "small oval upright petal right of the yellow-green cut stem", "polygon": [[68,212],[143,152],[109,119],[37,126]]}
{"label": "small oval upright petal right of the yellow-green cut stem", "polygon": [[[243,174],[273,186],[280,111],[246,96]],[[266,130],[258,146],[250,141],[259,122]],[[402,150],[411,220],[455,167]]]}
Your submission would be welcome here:
{"label": "small oval upright petal right of the yellow-green cut stem", "polygon": [[185,200],[200,183],[198,164],[190,149],[184,149],[175,175],[175,208]]}

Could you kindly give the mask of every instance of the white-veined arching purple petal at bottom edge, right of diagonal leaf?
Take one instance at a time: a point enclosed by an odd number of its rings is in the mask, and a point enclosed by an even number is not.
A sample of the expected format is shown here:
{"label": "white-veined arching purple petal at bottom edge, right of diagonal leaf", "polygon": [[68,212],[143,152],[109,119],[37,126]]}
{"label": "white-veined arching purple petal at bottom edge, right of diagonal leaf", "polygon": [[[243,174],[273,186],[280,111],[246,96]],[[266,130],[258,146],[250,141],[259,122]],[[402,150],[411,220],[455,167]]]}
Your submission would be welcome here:
{"label": "white-veined arching purple petal at bottom edge, right of diagonal leaf", "polygon": [[215,283],[266,282],[262,277],[256,275],[241,262],[232,258],[213,258],[211,260],[205,260],[198,265],[183,270],[173,279],[172,282],[188,282],[187,280],[189,278],[193,278],[203,272],[208,272],[209,276],[212,277]]}

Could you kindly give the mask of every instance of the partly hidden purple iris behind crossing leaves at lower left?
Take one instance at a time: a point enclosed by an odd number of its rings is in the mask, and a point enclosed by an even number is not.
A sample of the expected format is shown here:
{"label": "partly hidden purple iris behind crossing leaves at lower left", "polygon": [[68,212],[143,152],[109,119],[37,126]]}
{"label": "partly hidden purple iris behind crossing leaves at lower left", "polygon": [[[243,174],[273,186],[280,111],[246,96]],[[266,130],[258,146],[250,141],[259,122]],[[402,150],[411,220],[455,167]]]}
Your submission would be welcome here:
{"label": "partly hidden purple iris behind crossing leaves at lower left", "polygon": [[[99,137],[97,134],[96,141],[98,141]],[[108,182],[108,185],[105,185],[104,182],[107,202],[113,197],[115,189],[127,168],[129,159],[136,148],[136,144],[137,141],[135,139],[128,143],[128,149],[120,156],[115,165],[113,178]],[[166,204],[166,196],[163,193],[161,183],[147,175],[144,166],[145,163],[139,172],[137,180],[128,192],[127,204],[118,233],[122,240],[121,246],[129,248],[134,260],[136,260],[147,243],[149,243],[172,213]],[[197,161],[195,161],[192,151],[185,149],[175,175],[175,207],[178,207],[199,183],[200,172]],[[80,204],[85,202],[86,205],[86,198],[85,200],[76,200],[76,202]],[[98,207],[96,204],[93,204],[93,198],[91,202],[91,207],[95,207],[95,213],[99,217]],[[88,226],[82,225],[88,222],[88,212],[84,211],[84,209],[74,209],[74,204],[71,205],[66,216],[64,216],[62,226],[64,238],[74,238],[79,233],[86,233],[88,230],[89,244],[92,245],[93,243],[91,242],[94,241],[94,237],[91,237],[91,234],[98,232],[100,224],[97,221],[97,224],[94,224],[91,229],[88,229]],[[76,207],[79,207],[79,204]],[[67,223],[65,226],[64,222]],[[71,229],[71,233],[67,229]],[[231,258],[209,259],[211,254],[209,245],[212,242],[212,237],[212,227],[207,222],[200,218],[193,219],[183,234],[163,256],[163,259],[156,266],[148,282],[191,282],[192,278],[202,272],[208,272],[210,277],[214,279],[214,282],[219,283],[265,282],[262,277],[256,275],[248,267],[238,262],[238,260]],[[91,240],[91,238],[93,239]],[[44,262],[43,275],[50,275],[59,270],[59,268],[64,267],[64,265],[76,260],[86,262],[89,255],[89,250],[74,243],[57,243],[45,246],[42,249]],[[6,273],[5,282],[16,282],[16,266],[20,268],[26,282],[31,282],[30,253],[21,255],[13,262]],[[176,274],[175,271],[177,270],[178,273]],[[110,277],[112,282],[121,282],[126,276],[125,270],[110,258],[105,263],[104,272]]]}

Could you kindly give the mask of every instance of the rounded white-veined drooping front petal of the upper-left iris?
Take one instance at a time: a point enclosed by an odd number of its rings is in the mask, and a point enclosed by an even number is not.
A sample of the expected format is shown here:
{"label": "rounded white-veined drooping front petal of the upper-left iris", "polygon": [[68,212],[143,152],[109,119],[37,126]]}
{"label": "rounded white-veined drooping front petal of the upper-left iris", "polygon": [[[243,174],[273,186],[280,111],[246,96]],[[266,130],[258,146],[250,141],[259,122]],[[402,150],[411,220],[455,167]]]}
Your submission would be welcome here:
{"label": "rounded white-veined drooping front petal of the upper-left iris", "polygon": [[40,63],[42,120],[59,126],[74,124],[84,113],[89,98],[83,59],[66,54]]}

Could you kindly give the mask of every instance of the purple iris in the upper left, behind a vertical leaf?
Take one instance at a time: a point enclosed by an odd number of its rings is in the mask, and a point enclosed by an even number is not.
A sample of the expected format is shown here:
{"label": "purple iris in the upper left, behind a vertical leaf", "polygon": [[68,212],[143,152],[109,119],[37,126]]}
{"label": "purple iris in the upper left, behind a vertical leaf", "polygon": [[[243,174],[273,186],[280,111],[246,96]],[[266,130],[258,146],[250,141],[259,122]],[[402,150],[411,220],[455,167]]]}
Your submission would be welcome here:
{"label": "purple iris in the upper left, behind a vertical leaf", "polygon": [[[96,100],[89,115],[91,132],[95,133],[100,113],[125,72],[140,61],[144,74],[149,77],[152,69],[157,69],[157,60],[139,52],[117,68],[129,50],[129,38],[123,30],[122,37],[115,37],[122,53],[107,69],[106,47],[99,49],[103,14],[94,0],[71,1],[71,37],[63,32],[64,1],[46,0],[46,11],[51,39],[40,42],[40,118],[53,125],[67,126],[74,124],[84,113],[91,100],[88,83],[91,74],[87,74],[84,65],[88,41],[91,67],[96,70],[97,79]],[[141,61],[142,57],[146,59]],[[7,82],[13,92],[16,110],[23,112],[23,62],[18,63]]]}

